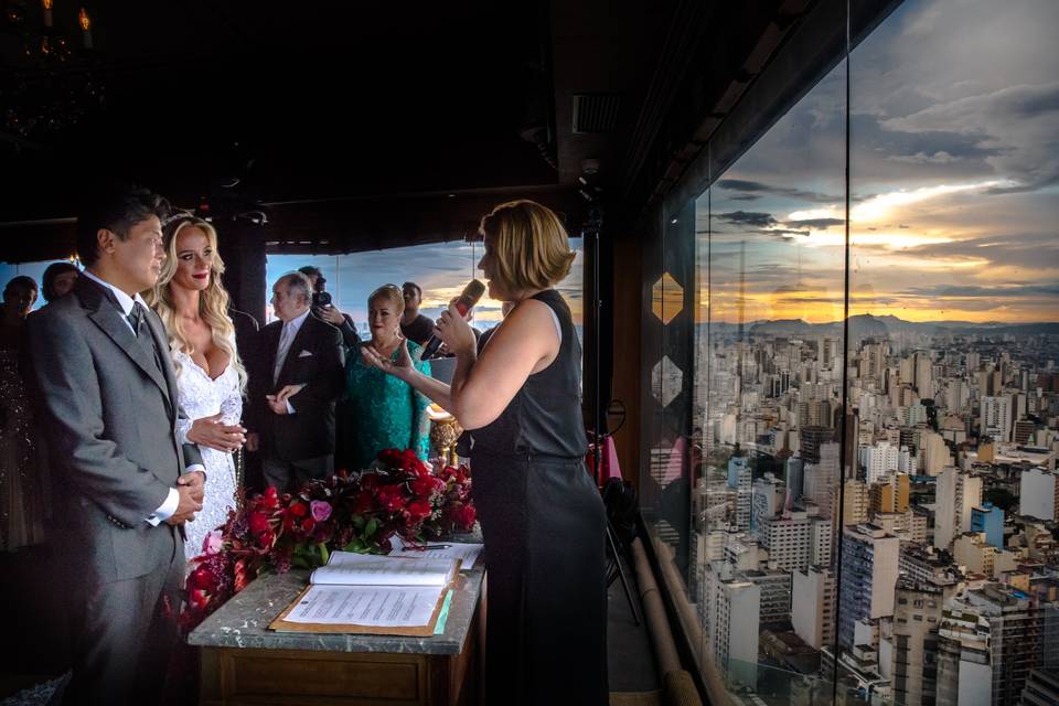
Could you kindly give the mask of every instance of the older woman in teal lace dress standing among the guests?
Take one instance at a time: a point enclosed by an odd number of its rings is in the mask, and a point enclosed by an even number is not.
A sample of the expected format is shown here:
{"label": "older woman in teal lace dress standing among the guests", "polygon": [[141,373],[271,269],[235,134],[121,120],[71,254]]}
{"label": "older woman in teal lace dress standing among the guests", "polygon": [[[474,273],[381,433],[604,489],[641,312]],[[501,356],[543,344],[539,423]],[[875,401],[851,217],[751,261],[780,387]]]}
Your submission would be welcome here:
{"label": "older woman in teal lace dress standing among the guests", "polygon": [[[394,285],[379,287],[367,299],[367,320],[372,330],[370,345],[393,360],[402,352],[400,314],[405,300]],[[420,346],[408,342],[413,360]],[[430,375],[430,363],[417,362],[416,370]],[[366,365],[360,355],[351,355],[345,366],[346,394],[356,424],[345,429],[352,437],[351,469],[367,468],[384,449],[415,449],[426,460],[430,451],[430,400],[408,383]]]}

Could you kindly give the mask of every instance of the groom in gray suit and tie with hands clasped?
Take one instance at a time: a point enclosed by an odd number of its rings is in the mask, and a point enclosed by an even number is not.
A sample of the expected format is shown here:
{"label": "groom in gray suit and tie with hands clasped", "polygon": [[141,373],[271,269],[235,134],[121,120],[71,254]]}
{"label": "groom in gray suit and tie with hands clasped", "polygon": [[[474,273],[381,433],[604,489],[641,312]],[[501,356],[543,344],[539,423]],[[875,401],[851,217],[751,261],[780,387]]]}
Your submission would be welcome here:
{"label": "groom in gray suit and tie with hands clasped", "polygon": [[32,317],[30,354],[57,468],[56,580],[72,608],[67,704],[156,704],[178,639],[180,525],[202,509],[195,447],[176,439],[176,381],[159,318],[137,292],[161,267],[168,205],[115,190],[77,222],[86,266]]}

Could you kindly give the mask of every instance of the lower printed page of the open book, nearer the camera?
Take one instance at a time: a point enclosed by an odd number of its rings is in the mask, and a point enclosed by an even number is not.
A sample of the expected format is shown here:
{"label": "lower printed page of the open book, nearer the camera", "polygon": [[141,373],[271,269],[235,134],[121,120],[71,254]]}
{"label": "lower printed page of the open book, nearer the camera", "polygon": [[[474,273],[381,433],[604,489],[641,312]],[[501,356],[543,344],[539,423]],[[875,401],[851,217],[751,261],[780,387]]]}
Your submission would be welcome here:
{"label": "lower printed page of the open book, nearer the camera", "polygon": [[430,624],[443,587],[310,586],[286,622],[415,628]]}

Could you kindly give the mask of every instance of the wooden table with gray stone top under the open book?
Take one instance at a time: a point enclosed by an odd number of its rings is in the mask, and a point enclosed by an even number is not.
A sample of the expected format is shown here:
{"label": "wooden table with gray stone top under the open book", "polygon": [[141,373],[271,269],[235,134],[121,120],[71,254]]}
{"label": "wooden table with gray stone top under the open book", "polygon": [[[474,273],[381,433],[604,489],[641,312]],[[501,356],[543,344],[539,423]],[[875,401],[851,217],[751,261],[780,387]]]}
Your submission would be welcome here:
{"label": "wooden table with gray stone top under the open book", "polygon": [[255,579],[189,635],[201,704],[474,704],[481,568],[461,571],[445,632],[430,638],[272,632],[308,573]]}

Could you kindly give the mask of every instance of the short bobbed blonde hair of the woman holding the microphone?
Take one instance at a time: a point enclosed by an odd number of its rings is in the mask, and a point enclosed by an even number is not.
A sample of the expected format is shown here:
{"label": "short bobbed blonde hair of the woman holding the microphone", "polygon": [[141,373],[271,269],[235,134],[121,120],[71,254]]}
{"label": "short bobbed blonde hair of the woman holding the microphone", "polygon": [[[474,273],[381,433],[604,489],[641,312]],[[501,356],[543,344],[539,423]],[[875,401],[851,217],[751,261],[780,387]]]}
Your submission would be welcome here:
{"label": "short bobbed blonde hair of the woman holding the microphone", "polygon": [[502,203],[479,231],[493,238],[494,279],[509,291],[548,289],[570,274],[576,255],[563,222],[535,201]]}

